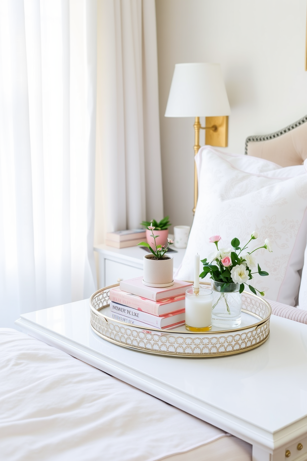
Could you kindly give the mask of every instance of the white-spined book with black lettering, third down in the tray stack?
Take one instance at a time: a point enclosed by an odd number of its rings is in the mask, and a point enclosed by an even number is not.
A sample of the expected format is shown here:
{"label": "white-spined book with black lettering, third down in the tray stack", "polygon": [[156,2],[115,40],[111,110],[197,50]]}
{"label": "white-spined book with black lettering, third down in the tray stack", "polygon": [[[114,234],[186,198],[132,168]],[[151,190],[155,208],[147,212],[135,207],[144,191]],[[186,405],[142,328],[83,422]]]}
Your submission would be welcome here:
{"label": "white-spined book with black lettering, third down in the tray stack", "polygon": [[185,309],[165,314],[160,317],[146,312],[138,311],[132,307],[123,306],[116,302],[110,301],[110,311],[117,315],[124,315],[129,319],[134,319],[139,322],[146,323],[155,328],[168,328],[170,325],[182,324],[185,322]]}

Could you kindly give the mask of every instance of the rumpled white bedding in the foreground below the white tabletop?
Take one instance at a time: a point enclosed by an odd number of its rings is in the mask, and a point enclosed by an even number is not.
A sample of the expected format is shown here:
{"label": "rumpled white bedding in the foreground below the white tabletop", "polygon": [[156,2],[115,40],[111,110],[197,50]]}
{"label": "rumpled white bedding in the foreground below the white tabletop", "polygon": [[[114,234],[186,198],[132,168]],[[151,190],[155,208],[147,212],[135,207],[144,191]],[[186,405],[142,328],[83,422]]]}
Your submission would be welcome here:
{"label": "rumpled white bedding in the foreground below the white tabletop", "polygon": [[93,366],[0,330],[3,461],[250,461],[251,445]]}

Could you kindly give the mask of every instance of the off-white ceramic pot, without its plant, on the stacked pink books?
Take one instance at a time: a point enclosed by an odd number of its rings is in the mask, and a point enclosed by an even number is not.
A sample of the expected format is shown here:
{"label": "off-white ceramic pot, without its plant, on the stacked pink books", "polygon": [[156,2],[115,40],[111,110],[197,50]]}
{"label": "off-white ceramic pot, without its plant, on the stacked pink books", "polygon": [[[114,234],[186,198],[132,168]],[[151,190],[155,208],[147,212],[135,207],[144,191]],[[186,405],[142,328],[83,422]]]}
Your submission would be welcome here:
{"label": "off-white ceramic pot, without its plant, on the stacked pink books", "polygon": [[150,287],[168,287],[174,284],[173,256],[165,254],[166,258],[162,260],[152,260],[150,257],[153,254],[145,254],[144,256],[144,275],[143,284]]}

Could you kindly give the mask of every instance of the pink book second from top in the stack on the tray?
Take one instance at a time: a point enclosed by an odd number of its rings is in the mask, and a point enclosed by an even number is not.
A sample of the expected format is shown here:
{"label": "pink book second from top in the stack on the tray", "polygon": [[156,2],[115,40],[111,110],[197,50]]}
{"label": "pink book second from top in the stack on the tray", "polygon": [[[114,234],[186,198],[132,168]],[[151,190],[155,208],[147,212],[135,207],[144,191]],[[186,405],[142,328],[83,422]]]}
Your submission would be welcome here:
{"label": "pink book second from top in the stack on the tray", "polygon": [[185,295],[174,296],[174,298],[163,299],[163,301],[152,301],[142,296],[133,295],[122,291],[118,287],[111,288],[110,301],[132,307],[152,315],[165,315],[185,308]]}

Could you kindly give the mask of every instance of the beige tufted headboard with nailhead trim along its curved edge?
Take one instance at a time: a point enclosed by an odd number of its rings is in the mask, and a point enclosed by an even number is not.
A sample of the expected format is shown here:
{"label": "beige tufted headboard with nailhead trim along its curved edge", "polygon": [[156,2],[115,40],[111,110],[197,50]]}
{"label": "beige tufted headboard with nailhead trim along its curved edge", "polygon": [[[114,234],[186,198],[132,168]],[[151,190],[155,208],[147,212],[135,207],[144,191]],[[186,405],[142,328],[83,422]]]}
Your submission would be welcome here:
{"label": "beige tufted headboard with nailhead trim along its curved edge", "polygon": [[275,133],[249,136],[245,141],[245,155],[281,166],[301,165],[307,159],[307,115]]}

